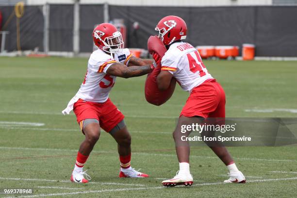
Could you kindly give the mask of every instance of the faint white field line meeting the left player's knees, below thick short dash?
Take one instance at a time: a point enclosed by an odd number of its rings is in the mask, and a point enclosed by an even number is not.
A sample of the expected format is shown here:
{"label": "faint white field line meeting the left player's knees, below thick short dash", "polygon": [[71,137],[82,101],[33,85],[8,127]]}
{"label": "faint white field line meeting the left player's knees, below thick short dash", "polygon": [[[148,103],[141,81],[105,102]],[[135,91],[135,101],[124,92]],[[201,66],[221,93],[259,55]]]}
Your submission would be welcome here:
{"label": "faint white field line meeting the left player's knees, below thick short dash", "polygon": [[[35,131],[61,131],[61,132],[79,132],[79,127],[77,129],[57,129],[57,128],[29,128],[29,127],[11,127],[0,125],[0,129],[20,129],[20,130],[35,130]],[[130,131],[136,133],[153,133],[153,134],[172,134],[172,132],[146,132],[146,131]]]}

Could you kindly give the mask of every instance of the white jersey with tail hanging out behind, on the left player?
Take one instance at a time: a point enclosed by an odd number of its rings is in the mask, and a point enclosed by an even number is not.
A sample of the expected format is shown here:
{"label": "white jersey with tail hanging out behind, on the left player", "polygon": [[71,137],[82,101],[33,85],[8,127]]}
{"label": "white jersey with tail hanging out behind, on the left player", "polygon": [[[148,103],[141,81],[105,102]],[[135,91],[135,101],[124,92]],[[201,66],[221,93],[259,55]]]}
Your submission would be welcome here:
{"label": "white jersey with tail hanging out behind, on the left player", "polygon": [[116,62],[128,66],[131,57],[132,54],[127,48],[115,53],[114,57],[101,49],[93,51],[88,61],[87,72],[82,85],[62,113],[69,114],[73,109],[73,104],[78,99],[99,103],[105,102],[108,99],[110,90],[115,84],[116,78],[115,76],[106,74],[107,69]]}

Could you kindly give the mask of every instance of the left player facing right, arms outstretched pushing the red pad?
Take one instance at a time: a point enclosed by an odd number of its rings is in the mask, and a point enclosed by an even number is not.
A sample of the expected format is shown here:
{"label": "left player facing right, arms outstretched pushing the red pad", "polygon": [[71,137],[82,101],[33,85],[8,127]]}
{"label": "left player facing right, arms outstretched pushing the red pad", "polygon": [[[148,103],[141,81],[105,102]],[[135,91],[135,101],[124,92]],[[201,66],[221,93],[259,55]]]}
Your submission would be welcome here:
{"label": "left player facing right, arms outstretched pushing the red pad", "polygon": [[123,49],[122,35],[112,24],[99,24],[93,31],[93,40],[99,49],[91,54],[84,81],[62,112],[66,115],[73,110],[85,135],[70,181],[86,183],[91,179],[82,168],[99,139],[100,128],[110,133],[118,144],[119,177],[148,177],[130,165],[131,136],[124,115],[109,99],[109,92],[116,77],[131,78],[151,72],[152,61],[136,58],[129,49]]}

